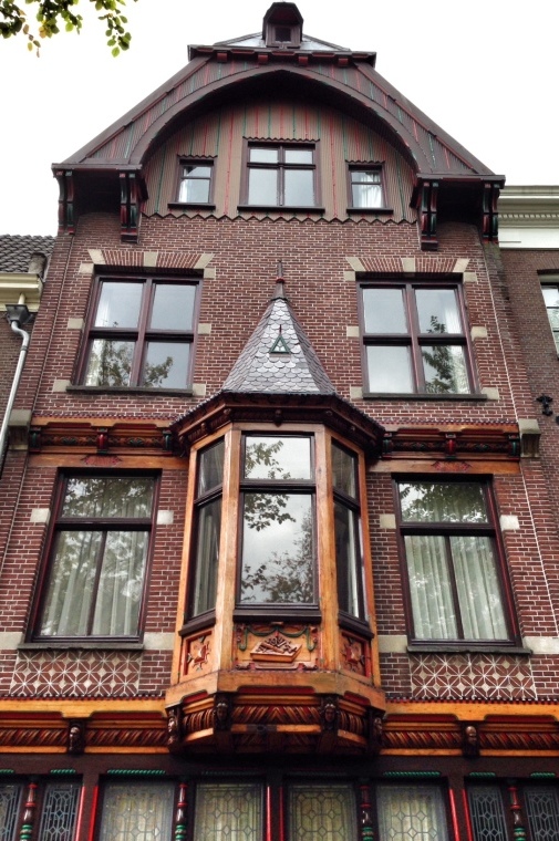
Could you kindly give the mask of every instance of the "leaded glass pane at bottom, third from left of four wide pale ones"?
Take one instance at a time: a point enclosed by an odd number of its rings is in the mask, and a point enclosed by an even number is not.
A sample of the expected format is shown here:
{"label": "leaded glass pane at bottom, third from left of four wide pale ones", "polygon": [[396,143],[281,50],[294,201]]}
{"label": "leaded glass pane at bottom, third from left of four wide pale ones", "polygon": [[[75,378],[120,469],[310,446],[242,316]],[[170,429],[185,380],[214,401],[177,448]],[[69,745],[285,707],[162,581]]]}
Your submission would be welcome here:
{"label": "leaded glass pane at bottom, third from left of four wide pale ones", "polygon": [[351,786],[291,786],[288,811],[290,841],[356,841]]}

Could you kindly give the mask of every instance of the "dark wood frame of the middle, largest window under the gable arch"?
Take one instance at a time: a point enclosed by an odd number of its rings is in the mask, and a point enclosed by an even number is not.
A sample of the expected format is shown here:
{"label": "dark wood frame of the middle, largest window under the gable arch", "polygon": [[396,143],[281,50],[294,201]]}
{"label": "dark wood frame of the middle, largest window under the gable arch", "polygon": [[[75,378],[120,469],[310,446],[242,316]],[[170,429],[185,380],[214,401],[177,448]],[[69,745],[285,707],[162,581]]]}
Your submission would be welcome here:
{"label": "dark wood frame of the middle, largest window under the gable arch", "polygon": [[[277,163],[258,163],[250,162],[250,149],[278,149],[279,159]],[[310,149],[312,150],[312,164],[286,164],[284,152],[286,149]],[[321,190],[320,190],[320,142],[319,141],[270,141],[270,139],[252,139],[245,138],[242,149],[242,178],[241,178],[241,200],[238,205],[239,210],[291,210],[296,212],[314,212],[320,214],[324,211],[321,207]],[[273,170],[278,173],[278,193],[277,200],[273,203],[257,203],[249,204],[249,179],[251,169]],[[313,196],[314,203],[312,205],[286,205],[283,201],[284,195],[284,173],[289,172],[309,172],[313,174]]]}

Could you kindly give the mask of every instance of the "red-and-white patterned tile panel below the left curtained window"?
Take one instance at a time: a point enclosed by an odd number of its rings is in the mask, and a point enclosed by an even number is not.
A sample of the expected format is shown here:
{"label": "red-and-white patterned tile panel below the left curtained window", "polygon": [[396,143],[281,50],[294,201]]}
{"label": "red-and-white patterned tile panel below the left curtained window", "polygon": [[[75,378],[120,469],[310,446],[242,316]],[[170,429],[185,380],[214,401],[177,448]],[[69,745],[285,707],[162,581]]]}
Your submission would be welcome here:
{"label": "red-and-white patterned tile panel below the left curtained window", "polygon": [[19,697],[124,697],[137,695],[139,652],[20,652],[10,686]]}

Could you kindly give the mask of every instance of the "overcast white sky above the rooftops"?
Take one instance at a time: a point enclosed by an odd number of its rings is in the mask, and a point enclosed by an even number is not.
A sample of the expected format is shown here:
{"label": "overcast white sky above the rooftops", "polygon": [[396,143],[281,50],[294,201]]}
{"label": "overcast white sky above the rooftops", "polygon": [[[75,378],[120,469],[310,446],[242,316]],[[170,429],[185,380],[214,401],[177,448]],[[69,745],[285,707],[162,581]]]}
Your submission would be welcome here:
{"label": "overcast white sky above the rooftops", "polygon": [[[188,44],[256,32],[271,0],[128,0],[113,59],[89,12],[81,35],[0,39],[0,233],[55,233],[61,163],[188,61]],[[377,53],[376,70],[509,185],[559,184],[557,0],[299,0],[304,31]],[[32,7],[25,7],[31,9]]]}

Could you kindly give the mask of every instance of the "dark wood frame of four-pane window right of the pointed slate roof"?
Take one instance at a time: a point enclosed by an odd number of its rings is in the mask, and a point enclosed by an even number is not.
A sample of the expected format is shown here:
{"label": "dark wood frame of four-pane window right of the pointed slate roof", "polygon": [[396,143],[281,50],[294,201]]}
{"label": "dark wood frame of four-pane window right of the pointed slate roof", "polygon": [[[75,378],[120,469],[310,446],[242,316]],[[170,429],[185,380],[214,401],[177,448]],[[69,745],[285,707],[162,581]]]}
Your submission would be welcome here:
{"label": "dark wood frame of four-pane window right of the pointed slate roof", "polygon": [[[364,291],[368,289],[400,289],[403,292],[404,300],[404,315],[407,326],[407,332],[401,333],[368,333],[365,331],[365,307],[364,307]],[[415,302],[416,290],[453,290],[456,294],[457,313],[459,316],[462,330],[460,332],[446,332],[446,333],[425,333],[420,330],[420,320],[417,313],[417,305]],[[425,280],[404,280],[402,278],[395,279],[380,279],[380,280],[362,280],[358,284],[358,310],[360,318],[360,331],[362,336],[362,366],[364,372],[364,397],[382,397],[382,398],[397,398],[397,399],[485,399],[486,395],[479,393],[479,387],[476,377],[476,368],[474,364],[473,347],[468,335],[468,319],[466,312],[466,302],[464,300],[464,289],[459,281],[439,281],[434,279]],[[422,360],[422,347],[434,345],[437,347],[457,346],[464,350],[465,373],[468,381],[467,392],[444,392],[444,391],[427,391],[425,382],[425,373]],[[370,387],[370,372],[368,361],[368,347],[382,346],[382,347],[406,347],[410,350],[411,360],[411,391],[394,391],[394,392],[375,392]]]}

